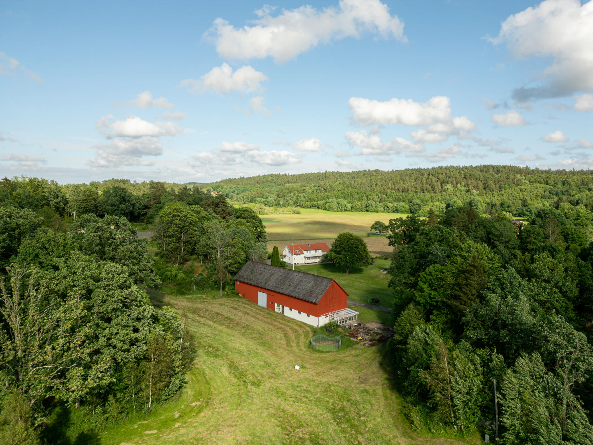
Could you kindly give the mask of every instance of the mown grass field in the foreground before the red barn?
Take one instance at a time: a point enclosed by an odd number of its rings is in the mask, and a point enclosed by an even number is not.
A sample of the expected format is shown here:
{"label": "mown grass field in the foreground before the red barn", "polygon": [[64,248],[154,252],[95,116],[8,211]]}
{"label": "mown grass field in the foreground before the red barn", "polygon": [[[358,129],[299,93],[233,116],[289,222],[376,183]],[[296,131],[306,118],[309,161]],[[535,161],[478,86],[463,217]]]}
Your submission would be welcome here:
{"label": "mown grass field in the foreground before the red barn", "polygon": [[[186,310],[197,355],[178,397],[101,434],[127,444],[462,444],[418,437],[380,347],[315,352],[311,328],[241,297],[152,295]],[[295,365],[301,370],[295,370]]]}

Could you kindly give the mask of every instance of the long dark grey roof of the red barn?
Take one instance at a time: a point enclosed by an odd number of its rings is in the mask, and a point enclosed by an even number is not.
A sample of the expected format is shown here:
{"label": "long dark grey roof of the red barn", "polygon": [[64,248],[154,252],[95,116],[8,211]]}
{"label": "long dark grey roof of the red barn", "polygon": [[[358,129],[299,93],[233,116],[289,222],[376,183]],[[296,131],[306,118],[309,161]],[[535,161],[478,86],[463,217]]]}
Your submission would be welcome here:
{"label": "long dark grey roof of the red barn", "polygon": [[235,275],[235,280],[319,303],[333,279],[291,269],[248,261]]}

